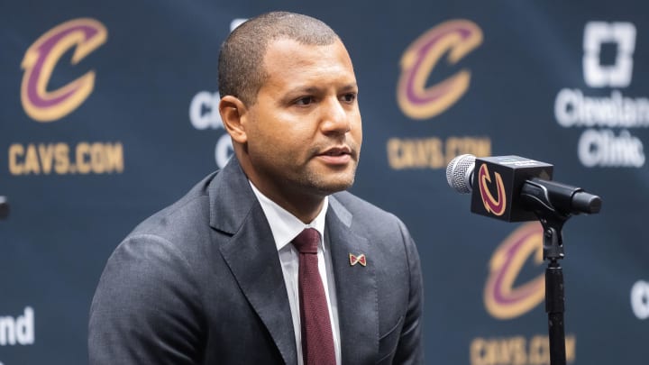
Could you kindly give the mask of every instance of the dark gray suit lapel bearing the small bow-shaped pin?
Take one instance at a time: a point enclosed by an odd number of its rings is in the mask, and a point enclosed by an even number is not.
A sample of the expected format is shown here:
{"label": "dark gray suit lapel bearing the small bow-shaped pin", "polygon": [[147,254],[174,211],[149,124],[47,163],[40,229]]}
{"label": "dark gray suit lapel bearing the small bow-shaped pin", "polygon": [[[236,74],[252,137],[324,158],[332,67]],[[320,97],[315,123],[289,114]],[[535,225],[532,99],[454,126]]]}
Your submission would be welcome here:
{"label": "dark gray suit lapel bearing the small bow-shaped pin", "polygon": [[[352,214],[330,196],[326,228],[331,248],[343,363],[370,362],[379,353],[379,302],[370,242],[350,230]],[[367,266],[351,265],[350,253]]]}

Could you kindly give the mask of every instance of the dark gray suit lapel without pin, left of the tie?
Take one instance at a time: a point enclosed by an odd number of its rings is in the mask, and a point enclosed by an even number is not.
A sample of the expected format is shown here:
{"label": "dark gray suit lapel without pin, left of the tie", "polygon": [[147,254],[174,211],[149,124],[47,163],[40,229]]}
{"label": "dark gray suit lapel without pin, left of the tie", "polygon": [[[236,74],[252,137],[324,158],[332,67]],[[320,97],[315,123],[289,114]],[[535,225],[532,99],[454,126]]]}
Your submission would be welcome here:
{"label": "dark gray suit lapel without pin, left of the tie", "polygon": [[225,262],[284,361],[297,363],[293,319],[278,251],[261,205],[235,158],[216,175],[209,194],[210,224],[233,234],[220,246]]}

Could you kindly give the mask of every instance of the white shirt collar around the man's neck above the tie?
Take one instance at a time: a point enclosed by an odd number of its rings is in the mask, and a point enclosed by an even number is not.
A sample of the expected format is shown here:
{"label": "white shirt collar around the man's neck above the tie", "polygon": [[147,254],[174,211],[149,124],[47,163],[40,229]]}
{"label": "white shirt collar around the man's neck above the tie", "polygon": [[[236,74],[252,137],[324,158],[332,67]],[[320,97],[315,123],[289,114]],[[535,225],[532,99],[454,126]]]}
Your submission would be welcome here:
{"label": "white shirt collar around the man's neck above the tie", "polygon": [[322,244],[322,240],[324,239],[324,216],[329,207],[329,196],[324,196],[323,207],[320,209],[320,213],[317,214],[315,219],[309,224],[304,224],[297,218],[297,216],[290,214],[288,210],[270,200],[268,196],[264,196],[261,191],[252,184],[251,180],[248,180],[248,182],[250,183],[255,196],[257,196],[257,200],[260,202],[261,209],[264,214],[266,214],[266,219],[270,224],[270,231],[273,234],[273,239],[275,240],[278,251],[286,247],[286,245],[293,241],[297,234],[302,232],[305,228],[315,228],[315,230],[320,233],[320,247],[322,247],[324,251],[324,244]]}

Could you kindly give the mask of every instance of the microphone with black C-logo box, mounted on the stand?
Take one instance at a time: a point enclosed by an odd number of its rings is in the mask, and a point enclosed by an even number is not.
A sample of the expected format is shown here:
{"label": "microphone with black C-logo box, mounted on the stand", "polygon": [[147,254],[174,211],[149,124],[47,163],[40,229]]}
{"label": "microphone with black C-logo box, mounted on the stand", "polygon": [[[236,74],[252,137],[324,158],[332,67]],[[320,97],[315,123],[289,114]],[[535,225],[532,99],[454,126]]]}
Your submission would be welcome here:
{"label": "microphone with black C-logo box, mounted on the stand", "polygon": [[599,213],[599,196],[551,181],[552,174],[553,165],[520,156],[465,154],[448,164],[446,181],[462,194],[472,192],[472,213],[507,222],[535,221],[540,211],[564,216]]}

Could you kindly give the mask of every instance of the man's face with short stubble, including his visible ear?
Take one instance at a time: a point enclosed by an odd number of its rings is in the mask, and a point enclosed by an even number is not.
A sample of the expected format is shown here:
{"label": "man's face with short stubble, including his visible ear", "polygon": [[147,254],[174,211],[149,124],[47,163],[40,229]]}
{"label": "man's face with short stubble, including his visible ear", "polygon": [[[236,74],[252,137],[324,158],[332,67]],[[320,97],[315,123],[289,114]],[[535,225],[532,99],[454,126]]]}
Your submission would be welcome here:
{"label": "man's face with short stubble, including his visible ear", "polygon": [[361,113],[343,43],[271,41],[264,68],[269,77],[242,118],[248,178],[278,203],[351,187],[361,151]]}

